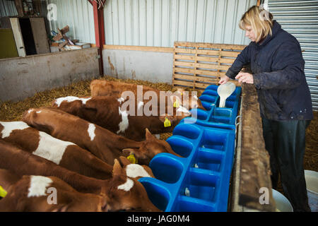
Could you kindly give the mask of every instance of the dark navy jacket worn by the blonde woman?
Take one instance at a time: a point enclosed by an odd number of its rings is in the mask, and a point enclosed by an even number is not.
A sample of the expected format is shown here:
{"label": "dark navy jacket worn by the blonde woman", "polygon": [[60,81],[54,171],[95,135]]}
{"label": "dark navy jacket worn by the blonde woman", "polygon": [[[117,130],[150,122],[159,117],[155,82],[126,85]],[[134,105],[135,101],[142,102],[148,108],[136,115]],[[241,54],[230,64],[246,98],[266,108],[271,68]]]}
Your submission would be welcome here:
{"label": "dark navy jacket worn by the blonde woman", "polygon": [[278,121],[313,118],[300,44],[275,20],[272,36],[268,35],[261,44],[250,42],[237,56],[226,76],[235,79],[242,67],[249,63],[261,117]]}

